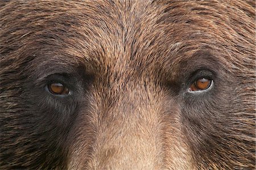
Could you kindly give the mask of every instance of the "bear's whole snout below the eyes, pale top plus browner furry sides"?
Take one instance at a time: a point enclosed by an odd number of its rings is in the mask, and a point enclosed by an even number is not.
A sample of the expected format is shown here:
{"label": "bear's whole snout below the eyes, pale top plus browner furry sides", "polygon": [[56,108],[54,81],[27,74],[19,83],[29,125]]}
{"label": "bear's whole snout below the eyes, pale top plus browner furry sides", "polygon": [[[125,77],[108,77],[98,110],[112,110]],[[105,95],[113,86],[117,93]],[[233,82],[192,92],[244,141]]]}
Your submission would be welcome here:
{"label": "bear's whole snout below the eyes, pale top plus browner furry sides", "polygon": [[160,87],[143,84],[91,91],[71,131],[70,169],[189,169],[176,102]]}

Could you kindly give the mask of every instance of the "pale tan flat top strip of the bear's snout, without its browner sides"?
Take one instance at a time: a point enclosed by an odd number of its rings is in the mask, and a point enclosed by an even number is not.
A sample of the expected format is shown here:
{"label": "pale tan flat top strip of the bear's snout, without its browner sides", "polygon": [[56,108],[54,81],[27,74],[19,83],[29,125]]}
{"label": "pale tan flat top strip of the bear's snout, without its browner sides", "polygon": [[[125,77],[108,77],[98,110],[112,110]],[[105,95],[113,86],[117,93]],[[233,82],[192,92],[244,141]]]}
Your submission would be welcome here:
{"label": "pale tan flat top strip of the bear's snout, without its browner sides", "polygon": [[[144,87],[126,88],[108,109],[102,109],[92,153],[94,167],[154,169],[160,166],[162,145],[158,100]],[[136,167],[136,166],[143,167]],[[114,167],[117,166],[117,167]]]}

